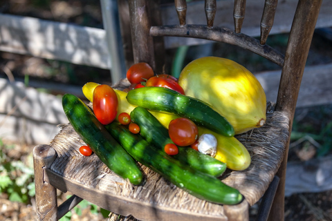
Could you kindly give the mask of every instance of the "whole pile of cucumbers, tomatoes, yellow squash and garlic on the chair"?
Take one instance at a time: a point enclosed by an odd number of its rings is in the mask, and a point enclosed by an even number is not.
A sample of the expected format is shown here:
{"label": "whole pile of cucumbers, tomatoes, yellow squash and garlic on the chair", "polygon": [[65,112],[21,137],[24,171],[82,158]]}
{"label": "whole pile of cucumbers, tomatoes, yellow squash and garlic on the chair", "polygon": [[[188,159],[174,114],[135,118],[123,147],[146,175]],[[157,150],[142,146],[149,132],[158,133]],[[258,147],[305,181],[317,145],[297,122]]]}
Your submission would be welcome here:
{"label": "whole pile of cucumbers, tomatoes, yellow squash and garlic on the chair", "polygon": [[64,112],[86,145],[114,173],[142,184],[137,162],[188,193],[216,204],[243,196],[218,177],[250,165],[234,135],[265,123],[266,97],[259,81],[228,59],[203,57],[179,79],[154,75],[146,63],[127,72],[127,91],[93,82],[82,88],[92,109],[75,95],[62,98]]}

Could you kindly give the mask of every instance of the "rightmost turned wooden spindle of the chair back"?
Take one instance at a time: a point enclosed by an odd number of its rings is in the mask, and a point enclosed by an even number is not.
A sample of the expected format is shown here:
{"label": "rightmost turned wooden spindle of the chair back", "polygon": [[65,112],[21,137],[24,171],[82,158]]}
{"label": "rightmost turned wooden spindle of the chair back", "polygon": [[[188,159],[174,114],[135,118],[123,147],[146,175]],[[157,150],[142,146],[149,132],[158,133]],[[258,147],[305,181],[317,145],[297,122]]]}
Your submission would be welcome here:
{"label": "rightmost turned wooden spindle of the chair back", "polygon": [[261,17],[261,44],[266,44],[268,34],[273,26],[275,19],[275,10],[277,9],[278,0],[266,0],[263,15]]}

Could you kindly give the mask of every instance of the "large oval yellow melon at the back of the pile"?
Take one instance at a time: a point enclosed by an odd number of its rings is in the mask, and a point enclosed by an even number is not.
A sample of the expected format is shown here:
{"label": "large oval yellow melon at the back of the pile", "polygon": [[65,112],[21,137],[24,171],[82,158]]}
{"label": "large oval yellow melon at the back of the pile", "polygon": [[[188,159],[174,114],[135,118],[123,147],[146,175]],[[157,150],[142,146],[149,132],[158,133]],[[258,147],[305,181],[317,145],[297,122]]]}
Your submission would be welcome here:
{"label": "large oval yellow melon at the back of the pile", "polygon": [[183,68],[178,84],[185,95],[210,104],[234,127],[236,134],[263,126],[266,95],[257,78],[237,62],[201,57]]}

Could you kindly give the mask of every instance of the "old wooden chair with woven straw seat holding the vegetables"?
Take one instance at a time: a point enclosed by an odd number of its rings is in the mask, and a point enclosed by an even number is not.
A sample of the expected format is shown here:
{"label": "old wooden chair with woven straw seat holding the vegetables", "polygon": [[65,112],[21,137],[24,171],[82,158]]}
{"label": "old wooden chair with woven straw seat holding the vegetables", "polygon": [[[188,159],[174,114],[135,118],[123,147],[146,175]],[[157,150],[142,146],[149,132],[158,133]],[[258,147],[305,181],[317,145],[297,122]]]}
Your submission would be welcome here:
{"label": "old wooden chair with woven straw seat holding the vegetables", "polygon": [[[145,61],[156,68],[163,61],[164,36],[194,37],[221,41],[246,48],[282,67],[277,103],[268,106],[262,128],[237,135],[252,155],[245,171],[228,171],[223,182],[234,186],[245,200],[234,206],[198,200],[142,166],[147,181],[132,186],[114,175],[98,157],[82,157],[83,144],[70,125],[49,145],[34,149],[37,215],[39,220],[57,220],[82,198],[121,215],[138,220],[249,220],[249,208],[259,202],[257,220],[284,220],[284,185],[295,104],[304,66],[322,0],[299,0],[284,55],[266,45],[273,25],[277,1],[266,0],[261,19],[261,37],[241,34],[246,1],[234,1],[234,30],[215,27],[216,1],[205,1],[207,25],[185,23],[187,5],[175,1],[179,24],[162,26],[156,1],[130,0],[134,62]],[[157,53],[158,52],[158,53]],[[122,86],[128,86],[124,84]],[[257,135],[255,137],[255,134]],[[255,139],[254,139],[255,138]],[[163,188],[158,188],[163,186]],[[56,189],[73,197],[57,206]],[[261,201],[260,201],[261,200]]]}

